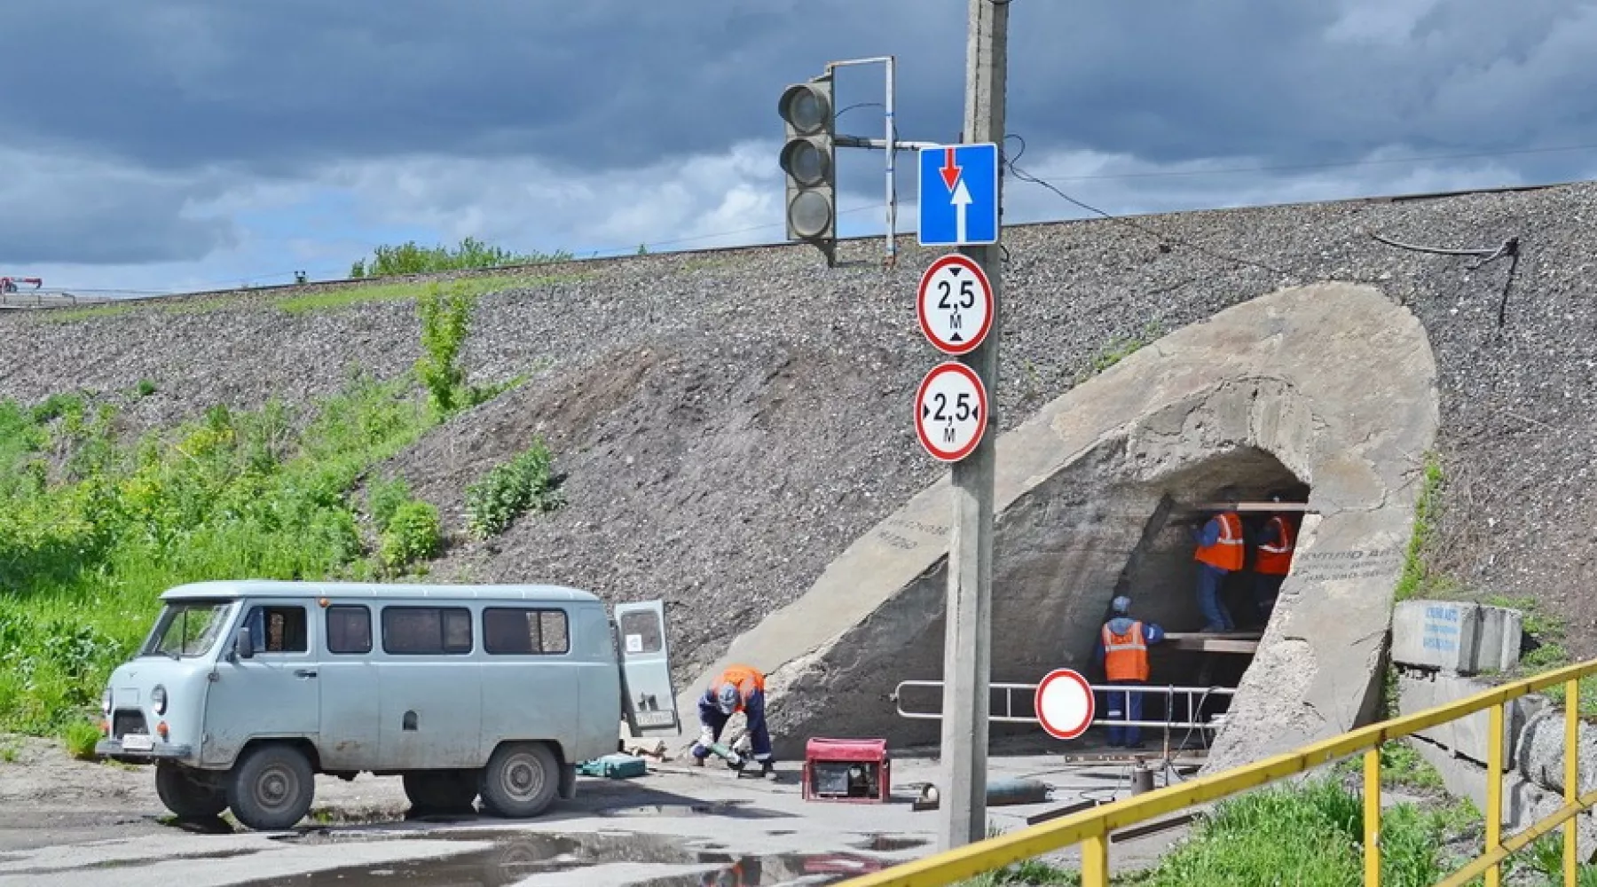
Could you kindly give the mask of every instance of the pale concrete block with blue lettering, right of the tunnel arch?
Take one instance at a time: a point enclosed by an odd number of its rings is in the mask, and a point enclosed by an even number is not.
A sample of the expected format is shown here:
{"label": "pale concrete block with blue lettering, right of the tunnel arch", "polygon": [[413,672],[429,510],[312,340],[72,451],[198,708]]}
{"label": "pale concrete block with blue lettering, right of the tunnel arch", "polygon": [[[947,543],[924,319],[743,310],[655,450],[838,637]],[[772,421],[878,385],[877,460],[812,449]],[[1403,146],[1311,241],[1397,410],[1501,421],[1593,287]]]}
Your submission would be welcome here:
{"label": "pale concrete block with blue lettering, right of the tunnel arch", "polygon": [[1506,606],[1409,600],[1393,611],[1393,662],[1456,675],[1519,664],[1522,614]]}

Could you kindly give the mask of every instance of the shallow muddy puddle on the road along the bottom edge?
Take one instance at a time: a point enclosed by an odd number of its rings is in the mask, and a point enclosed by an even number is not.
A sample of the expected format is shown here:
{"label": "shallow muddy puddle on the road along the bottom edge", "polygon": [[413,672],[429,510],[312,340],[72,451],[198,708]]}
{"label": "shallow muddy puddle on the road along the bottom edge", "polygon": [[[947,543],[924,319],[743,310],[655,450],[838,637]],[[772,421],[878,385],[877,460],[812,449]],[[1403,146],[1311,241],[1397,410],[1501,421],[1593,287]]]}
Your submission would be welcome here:
{"label": "shallow muddy puddle on the road along the bottom edge", "polygon": [[[430,833],[426,839],[492,841],[487,850],[473,850],[441,860],[404,860],[380,865],[345,866],[292,879],[254,881],[244,887],[292,884],[294,887],[508,887],[540,873],[569,871],[605,863],[656,863],[715,866],[685,876],[637,877],[648,887],[755,887],[811,877],[832,884],[843,877],[878,871],[888,863],[856,853],[787,853],[739,857],[650,834],[533,834],[524,831]],[[356,834],[350,841],[359,839]]]}

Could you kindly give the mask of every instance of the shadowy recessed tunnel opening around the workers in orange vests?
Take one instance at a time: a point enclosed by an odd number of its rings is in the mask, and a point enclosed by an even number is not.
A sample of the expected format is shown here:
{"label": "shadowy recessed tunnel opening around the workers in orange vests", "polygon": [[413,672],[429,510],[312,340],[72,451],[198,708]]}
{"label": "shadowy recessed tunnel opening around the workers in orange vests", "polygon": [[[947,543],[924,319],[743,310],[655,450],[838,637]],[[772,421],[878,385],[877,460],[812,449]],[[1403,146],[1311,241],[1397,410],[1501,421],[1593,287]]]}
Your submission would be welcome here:
{"label": "shadowy recessed tunnel opening around the workers in orange vests", "polygon": [[[1124,440],[1105,442],[1005,515],[993,576],[989,712],[995,743],[1057,747],[1036,726],[1027,688],[1062,667],[1081,672],[1094,686],[1107,684],[1096,646],[1113,617],[1112,601],[1121,595],[1131,600],[1131,617],[1166,633],[1148,649],[1150,680],[1137,718],[1161,726],[1140,727],[1142,747],[1163,750],[1167,742],[1172,751],[1206,750],[1230,712],[1231,691],[1252,665],[1268,621],[1255,593],[1258,531],[1271,514],[1282,514],[1302,542],[1310,487],[1257,447],[1211,451],[1174,471],[1139,475],[1140,467]],[[1279,512],[1265,504],[1276,496]],[[1195,534],[1215,506],[1236,503],[1247,542],[1244,563],[1219,589],[1234,629],[1206,632]],[[939,570],[923,584],[928,605],[936,606],[945,573]],[[891,664],[894,683],[931,678],[899,689],[901,712],[941,710],[936,675],[942,670],[942,630],[939,616]],[[1097,694],[1097,718],[1107,718],[1107,692]],[[1175,726],[1164,726],[1171,723]],[[917,745],[936,742],[934,721],[915,724]],[[1107,751],[1108,739],[1108,727],[1096,726],[1070,743],[1072,753]]]}

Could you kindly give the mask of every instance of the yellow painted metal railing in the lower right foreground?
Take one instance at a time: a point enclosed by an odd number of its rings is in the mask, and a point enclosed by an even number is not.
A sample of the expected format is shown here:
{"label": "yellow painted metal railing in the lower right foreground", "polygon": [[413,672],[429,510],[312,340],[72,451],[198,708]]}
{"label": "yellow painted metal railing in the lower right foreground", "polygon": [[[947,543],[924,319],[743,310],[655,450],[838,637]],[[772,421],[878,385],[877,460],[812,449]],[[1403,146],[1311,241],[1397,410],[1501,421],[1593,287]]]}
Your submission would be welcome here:
{"label": "yellow painted metal railing in the lower right foreground", "polygon": [[[1381,775],[1380,745],[1391,739],[1456,721],[1482,710],[1490,712],[1487,732],[1485,849],[1479,858],[1458,869],[1437,887],[1456,887],[1485,874],[1487,887],[1498,887],[1501,865],[1511,853],[1563,826],[1563,884],[1575,887],[1575,815],[1597,804],[1597,791],[1579,794],[1579,680],[1597,673],[1597,660],[1568,665],[1535,678],[1503,684],[1474,696],[1413,715],[1381,721],[1297,751],[1199,777],[1180,785],[1135,794],[1112,804],[1057,820],[989,838],[952,850],[902,863],[846,881],[850,887],[931,887],[953,884],[1008,865],[1065,847],[1081,847],[1083,887],[1108,885],[1108,839],[1119,828],[1153,817],[1217,801],[1300,774],[1338,758],[1364,753],[1364,884],[1377,887],[1381,877]],[[1563,700],[1563,806],[1511,838],[1503,838],[1503,707],[1512,699],[1565,684]]]}

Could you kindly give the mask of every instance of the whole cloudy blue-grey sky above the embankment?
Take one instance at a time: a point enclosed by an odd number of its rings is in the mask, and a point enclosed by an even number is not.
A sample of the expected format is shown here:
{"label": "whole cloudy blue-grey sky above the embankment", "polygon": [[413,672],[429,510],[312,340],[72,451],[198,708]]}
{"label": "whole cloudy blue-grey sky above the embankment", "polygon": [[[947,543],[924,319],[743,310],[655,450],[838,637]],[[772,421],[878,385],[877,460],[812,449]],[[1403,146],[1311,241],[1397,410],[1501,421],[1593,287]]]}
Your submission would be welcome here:
{"label": "whole cloudy blue-grey sky above the embankment", "polygon": [[[1009,10],[1011,156],[1113,214],[1597,177],[1597,0]],[[965,27],[966,0],[0,0],[0,274],[779,241],[781,89],[893,54],[901,136],[957,139]],[[843,131],[880,136],[880,67],[840,72]],[[838,163],[843,233],[880,233],[883,155]],[[1083,214],[1006,185],[1009,222]]]}

